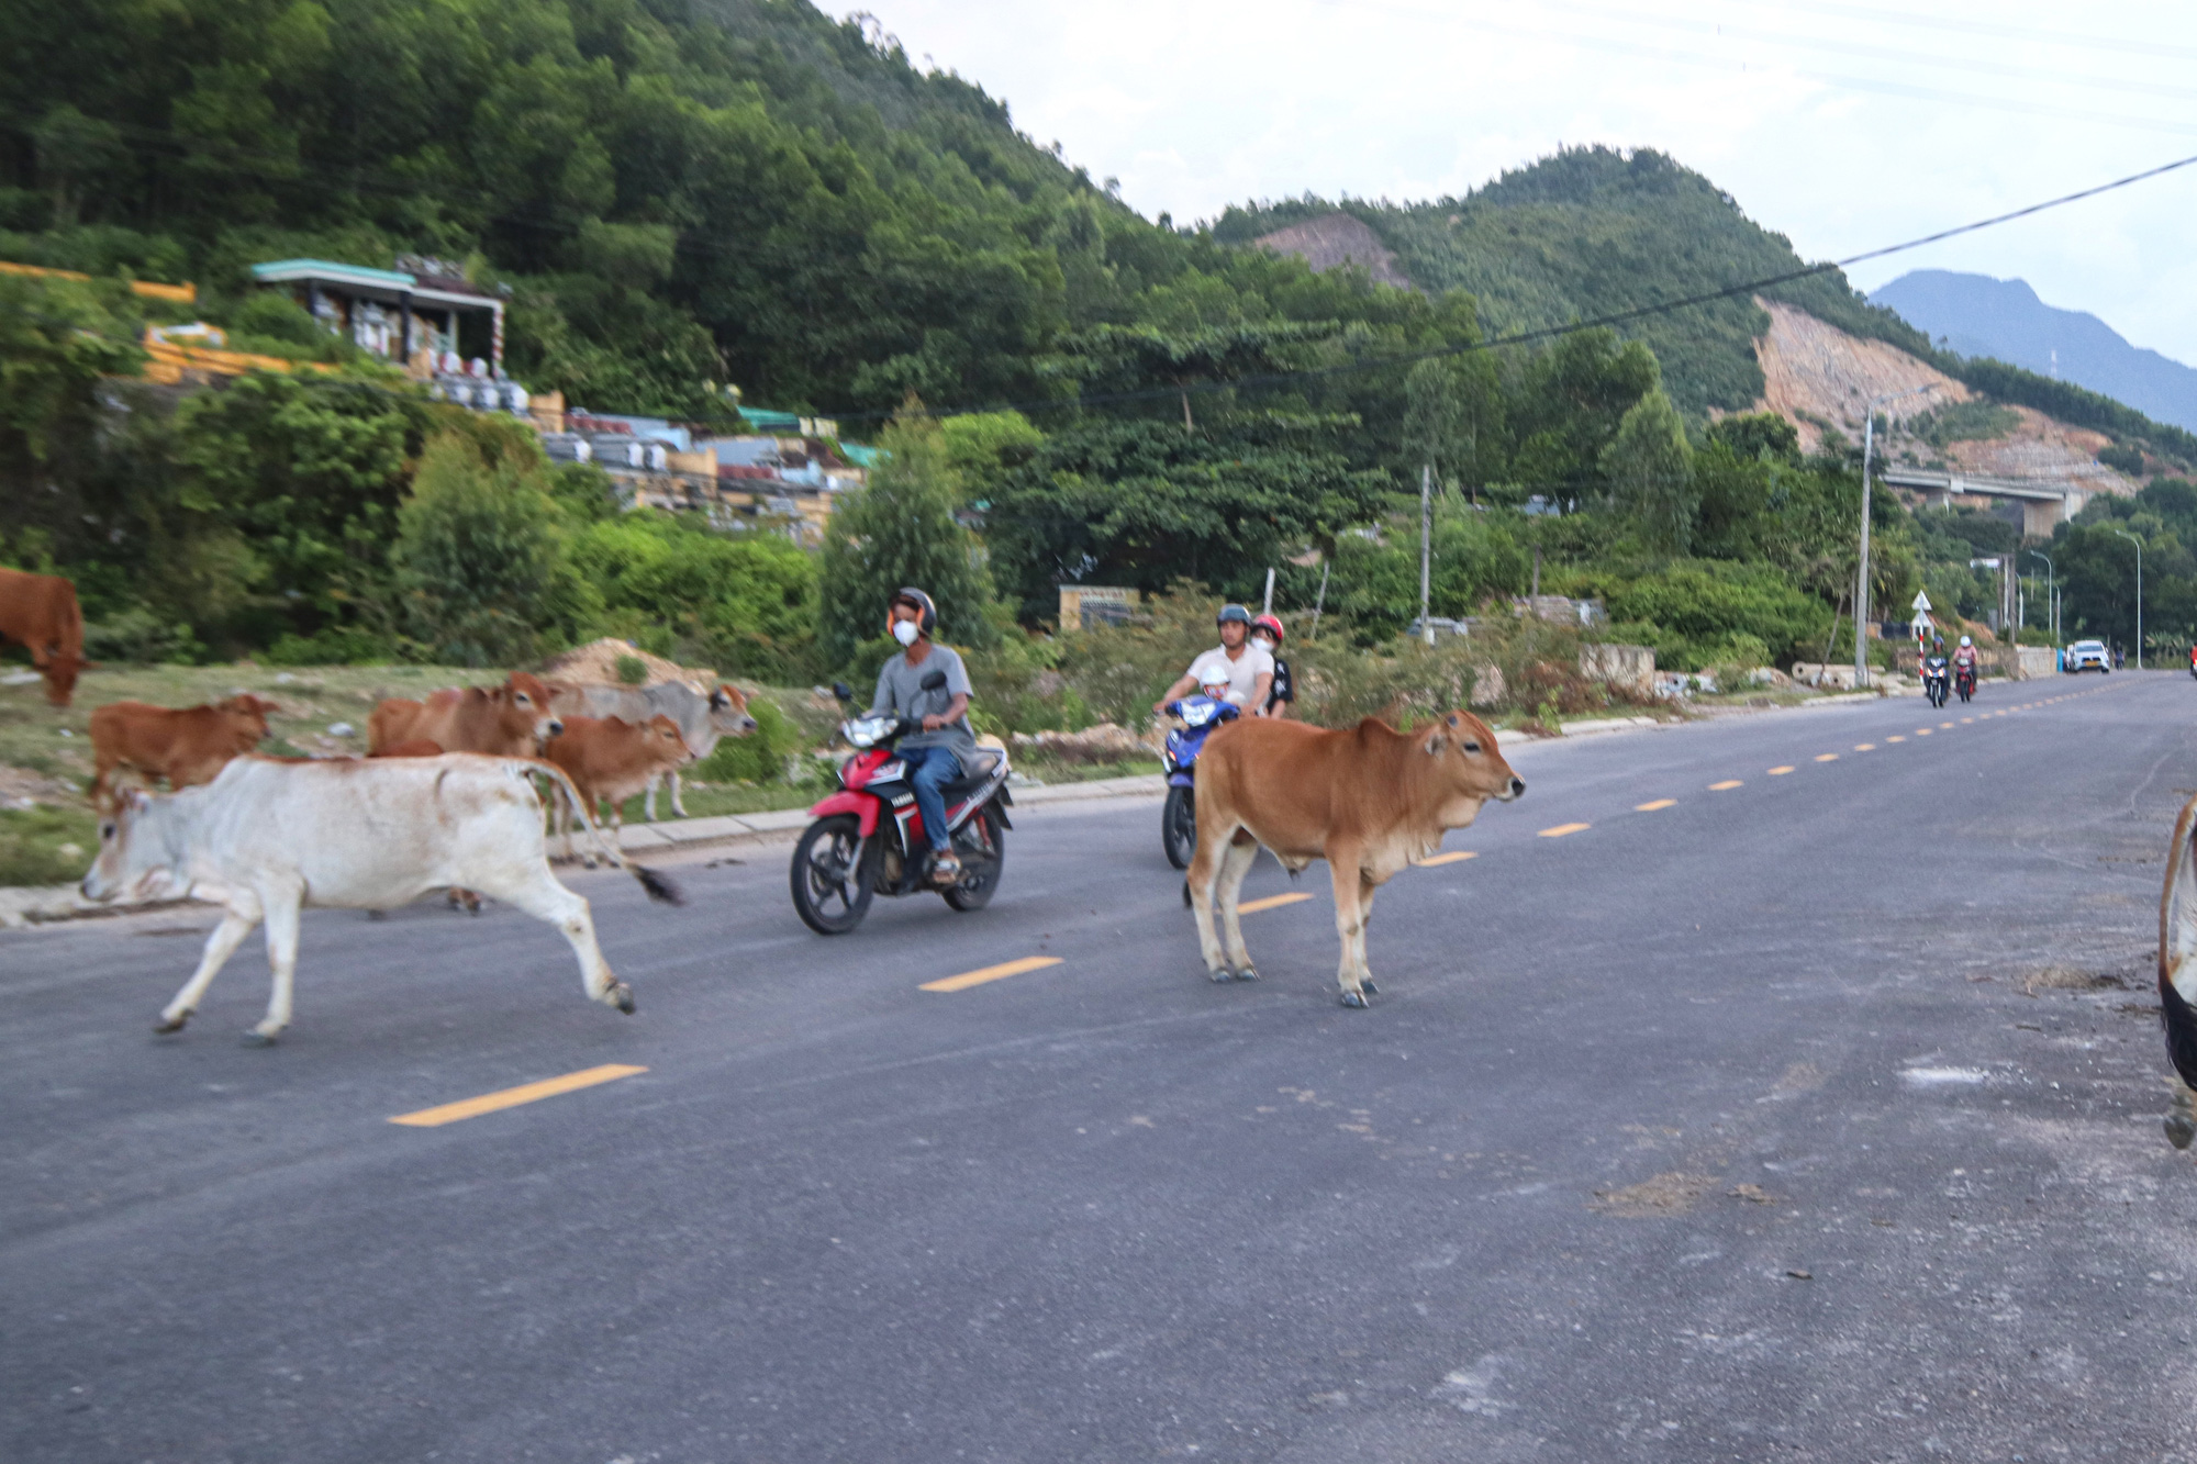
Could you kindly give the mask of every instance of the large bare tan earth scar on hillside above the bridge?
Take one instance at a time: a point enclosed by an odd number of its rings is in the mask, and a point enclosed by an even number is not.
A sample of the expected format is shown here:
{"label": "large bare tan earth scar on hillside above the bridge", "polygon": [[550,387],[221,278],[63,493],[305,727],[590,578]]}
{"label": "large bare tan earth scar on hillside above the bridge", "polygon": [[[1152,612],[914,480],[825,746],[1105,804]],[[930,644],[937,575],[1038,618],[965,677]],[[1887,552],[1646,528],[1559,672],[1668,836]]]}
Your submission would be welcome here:
{"label": "large bare tan earth scar on hillside above the bridge", "polygon": [[1973,400],[1975,391],[1896,345],[1850,336],[1793,306],[1769,299],[1755,303],[1771,317],[1769,334],[1755,341],[1764,380],[1755,411],[1775,411],[1793,422],[1808,451],[1821,446],[1824,422],[1859,440],[1870,398],[1936,387],[1927,396],[1885,407],[1883,415],[1892,418],[1892,431],[1889,440],[1878,444],[1883,462],[1942,466],[1982,477],[2067,481],[2085,492],[2127,495],[2138,488],[2098,462],[2098,451],[2109,446],[2111,437],[2067,426],[2030,407],[2012,409],[2019,422],[2004,437],[1933,446],[1903,431],[1905,424],[1936,407]]}

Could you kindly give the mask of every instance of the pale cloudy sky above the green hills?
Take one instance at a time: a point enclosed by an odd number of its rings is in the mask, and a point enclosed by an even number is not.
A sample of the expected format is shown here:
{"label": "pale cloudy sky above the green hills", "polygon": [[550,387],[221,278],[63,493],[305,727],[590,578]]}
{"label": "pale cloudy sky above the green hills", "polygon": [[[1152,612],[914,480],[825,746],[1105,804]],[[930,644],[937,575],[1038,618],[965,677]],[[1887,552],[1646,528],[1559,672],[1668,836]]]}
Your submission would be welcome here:
{"label": "pale cloudy sky above the green hills", "polygon": [[[1806,259],[2197,154],[2188,0],[868,0],[1147,218],[1654,147]],[[1854,266],[2028,279],[2197,365],[2197,167]]]}

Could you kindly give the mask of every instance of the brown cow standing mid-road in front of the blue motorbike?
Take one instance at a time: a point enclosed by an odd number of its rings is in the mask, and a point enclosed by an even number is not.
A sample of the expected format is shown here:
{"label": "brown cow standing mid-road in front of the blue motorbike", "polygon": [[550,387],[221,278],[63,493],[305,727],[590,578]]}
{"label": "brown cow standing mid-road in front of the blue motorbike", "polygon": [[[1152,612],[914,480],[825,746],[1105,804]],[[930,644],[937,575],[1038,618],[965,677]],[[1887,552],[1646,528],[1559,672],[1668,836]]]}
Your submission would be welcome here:
{"label": "brown cow standing mid-road in front of the blue motorbike", "polygon": [[[1244,947],[1237,892],[1265,844],[1292,875],[1327,859],[1345,1007],[1364,1007],[1375,989],[1367,969],[1373,890],[1441,849],[1448,829],[1468,829],[1490,798],[1509,802],[1525,791],[1496,752],[1496,734],[1463,710],[1415,732],[1375,717],[1347,732],[1265,717],[1233,721],[1206,739],[1195,776],[1197,855],[1184,892],[1197,910],[1206,974],[1259,978]],[[1226,958],[1213,934],[1215,892]]]}

